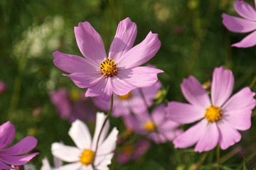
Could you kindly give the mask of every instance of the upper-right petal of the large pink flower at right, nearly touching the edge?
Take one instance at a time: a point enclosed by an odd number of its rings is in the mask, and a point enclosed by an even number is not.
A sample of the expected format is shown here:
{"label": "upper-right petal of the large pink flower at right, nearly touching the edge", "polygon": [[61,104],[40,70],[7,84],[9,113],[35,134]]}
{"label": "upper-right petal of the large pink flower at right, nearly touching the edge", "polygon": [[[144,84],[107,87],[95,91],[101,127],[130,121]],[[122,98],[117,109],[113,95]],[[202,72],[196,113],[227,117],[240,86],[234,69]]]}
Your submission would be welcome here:
{"label": "upper-right petal of the large pink flower at right, nearly touching the edge", "polygon": [[255,108],[256,100],[253,98],[255,92],[245,87],[234,94],[222,107],[223,112],[252,110]]}

